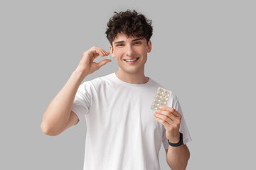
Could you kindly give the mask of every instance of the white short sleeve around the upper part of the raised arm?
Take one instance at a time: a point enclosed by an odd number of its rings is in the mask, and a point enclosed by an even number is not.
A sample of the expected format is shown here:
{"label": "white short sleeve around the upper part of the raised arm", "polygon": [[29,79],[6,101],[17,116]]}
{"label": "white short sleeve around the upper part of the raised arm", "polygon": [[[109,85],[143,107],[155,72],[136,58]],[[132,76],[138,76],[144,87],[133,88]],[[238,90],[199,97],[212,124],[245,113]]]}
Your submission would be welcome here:
{"label": "white short sleeve around the upper part of the raised arm", "polygon": [[77,93],[75,94],[75,99],[73,101],[73,106],[71,111],[78,115],[79,120],[89,113],[91,104],[91,95],[90,95],[90,84],[88,81],[82,83]]}

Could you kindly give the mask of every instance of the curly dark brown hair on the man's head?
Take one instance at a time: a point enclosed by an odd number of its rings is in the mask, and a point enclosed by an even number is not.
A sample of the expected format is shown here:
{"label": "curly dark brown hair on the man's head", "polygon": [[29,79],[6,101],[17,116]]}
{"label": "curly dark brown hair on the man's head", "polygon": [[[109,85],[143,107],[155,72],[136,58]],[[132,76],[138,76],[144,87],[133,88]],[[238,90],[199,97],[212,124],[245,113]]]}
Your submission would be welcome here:
{"label": "curly dark brown hair on the man's head", "polygon": [[105,33],[107,34],[107,39],[110,41],[111,45],[118,33],[124,33],[128,37],[146,38],[146,42],[149,42],[153,35],[151,20],[146,19],[142,13],[137,13],[135,10],[114,13],[114,16],[112,16],[107,23],[107,30]]}

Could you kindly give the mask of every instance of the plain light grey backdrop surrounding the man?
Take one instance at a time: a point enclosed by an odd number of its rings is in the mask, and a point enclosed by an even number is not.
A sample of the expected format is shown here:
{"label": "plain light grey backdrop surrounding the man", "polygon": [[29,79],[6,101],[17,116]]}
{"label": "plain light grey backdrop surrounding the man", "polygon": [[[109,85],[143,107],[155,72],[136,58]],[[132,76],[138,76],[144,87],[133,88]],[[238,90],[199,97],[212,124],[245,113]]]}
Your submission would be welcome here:
{"label": "plain light grey backdrop surrounding the man", "polygon": [[[255,167],[255,1],[1,1],[0,169],[82,170],[85,119],[49,137],[42,116],[82,52],[109,50],[107,21],[128,8],[153,21],[145,72],[179,98],[187,169]],[[113,60],[85,80],[116,70]],[[165,157],[161,147],[161,169]]]}

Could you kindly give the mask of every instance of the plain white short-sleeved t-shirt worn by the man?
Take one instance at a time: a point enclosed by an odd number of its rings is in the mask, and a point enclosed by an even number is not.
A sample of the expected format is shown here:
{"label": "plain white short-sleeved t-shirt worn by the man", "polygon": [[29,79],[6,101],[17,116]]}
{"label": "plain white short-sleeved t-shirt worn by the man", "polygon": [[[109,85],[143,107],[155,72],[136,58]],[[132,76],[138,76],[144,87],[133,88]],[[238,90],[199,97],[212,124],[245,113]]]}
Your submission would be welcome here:
{"label": "plain white short-sleeved t-shirt worn by the man", "polygon": [[[129,84],[115,73],[79,86],[72,111],[80,120],[85,116],[87,124],[84,169],[160,169],[161,142],[164,149],[169,143],[151,110],[159,86],[150,78],[146,84]],[[174,93],[166,106],[183,115]],[[185,144],[191,141],[183,116],[180,132]]]}

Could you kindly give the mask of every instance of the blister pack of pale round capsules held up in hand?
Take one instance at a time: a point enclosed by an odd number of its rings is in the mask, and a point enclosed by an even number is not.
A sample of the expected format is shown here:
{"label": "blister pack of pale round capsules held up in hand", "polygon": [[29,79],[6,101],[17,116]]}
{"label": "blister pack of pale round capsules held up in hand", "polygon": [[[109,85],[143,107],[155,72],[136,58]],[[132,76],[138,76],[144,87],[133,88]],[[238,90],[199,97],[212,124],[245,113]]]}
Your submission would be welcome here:
{"label": "blister pack of pale round capsules held up in hand", "polygon": [[159,109],[160,106],[166,106],[167,101],[171,96],[171,91],[168,91],[162,87],[159,87],[156,92],[156,97],[151,105],[152,110]]}

